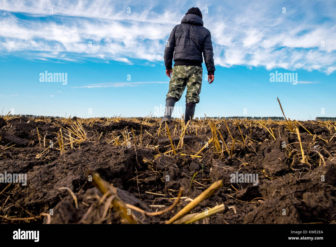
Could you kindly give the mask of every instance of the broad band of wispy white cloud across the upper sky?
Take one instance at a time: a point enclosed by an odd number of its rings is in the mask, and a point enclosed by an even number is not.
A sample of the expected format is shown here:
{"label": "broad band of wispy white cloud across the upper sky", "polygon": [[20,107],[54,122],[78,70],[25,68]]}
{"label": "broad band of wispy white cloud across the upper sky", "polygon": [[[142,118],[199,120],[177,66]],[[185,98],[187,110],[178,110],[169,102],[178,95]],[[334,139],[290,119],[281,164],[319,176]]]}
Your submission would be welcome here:
{"label": "broad band of wispy white cloud across the upper sky", "polygon": [[[195,4],[0,0],[0,51],[2,56],[42,60],[158,63],[171,29],[191,5]],[[203,12],[208,8],[203,19],[212,34],[216,65],[318,70],[327,75],[336,70],[336,3],[331,0],[246,0],[239,5],[207,0],[197,6]]]}

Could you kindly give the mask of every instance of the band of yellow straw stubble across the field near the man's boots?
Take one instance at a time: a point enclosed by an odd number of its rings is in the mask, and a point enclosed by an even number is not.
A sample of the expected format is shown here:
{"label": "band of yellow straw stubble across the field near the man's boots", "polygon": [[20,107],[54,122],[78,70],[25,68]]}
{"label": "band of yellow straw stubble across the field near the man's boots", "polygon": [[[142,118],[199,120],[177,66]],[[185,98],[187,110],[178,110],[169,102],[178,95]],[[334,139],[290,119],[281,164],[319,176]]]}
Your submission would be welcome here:
{"label": "band of yellow straw stubble across the field near the man's boots", "polygon": [[[284,114],[282,106],[280,108]],[[19,115],[10,116],[9,113],[3,118],[5,121],[9,121],[13,118],[17,118]],[[277,128],[272,126],[284,126],[290,135],[295,136],[297,139],[296,143],[299,143],[299,148],[293,148],[294,143],[286,143],[286,148],[284,149],[285,154],[288,158],[292,159],[292,166],[295,164],[306,164],[309,167],[313,165],[325,164],[326,160],[330,157],[324,157],[321,152],[314,149],[314,143],[316,140],[321,140],[323,142],[330,142],[335,137],[336,125],[332,121],[315,121],[312,124],[321,125],[328,129],[329,137],[312,134],[307,128],[304,127],[302,123],[297,120],[291,121],[284,114],[285,121],[273,121],[273,120],[247,120],[247,119],[214,119],[206,117],[205,119],[196,119],[192,123],[188,121],[184,124],[182,119],[175,120],[170,126],[159,125],[160,119],[155,119],[151,117],[145,118],[123,118],[123,117],[112,117],[112,118],[60,118],[54,121],[54,126],[59,128],[59,131],[54,132],[56,136],[56,142],[54,143],[54,148],[60,153],[64,153],[68,149],[80,148],[80,144],[83,141],[97,141],[105,140],[107,143],[113,146],[124,146],[124,147],[134,147],[137,148],[148,148],[154,153],[153,159],[146,160],[145,162],[153,163],[155,159],[158,159],[162,153],[168,156],[173,155],[190,155],[194,159],[202,160],[205,151],[214,153],[216,158],[225,160],[227,158],[239,157],[239,154],[244,150],[250,150],[255,152],[255,145],[259,145],[262,142],[267,141],[270,145],[271,143],[282,142],[282,137]],[[50,119],[35,119],[34,121],[46,121],[50,123]],[[92,127],[94,124],[100,126],[111,126],[115,123],[120,123],[121,121],[132,122],[141,126],[141,129],[121,129],[112,130],[107,133],[98,133],[96,130],[87,130],[88,127]],[[64,127],[66,126],[66,127]],[[148,126],[146,129],[142,129],[142,126]],[[235,134],[231,133],[233,127],[238,128],[239,136],[237,132]],[[210,129],[211,135],[205,136],[205,131]],[[267,130],[268,137],[266,139],[258,139],[253,137],[252,131],[262,129]],[[45,134],[41,133],[41,130],[36,128],[37,139],[32,140],[30,145],[37,145],[36,147],[41,149],[41,153],[36,156],[36,158],[47,157],[50,147],[49,142],[55,141],[47,139]],[[278,133],[279,132],[279,133]],[[312,137],[309,142],[301,141],[300,136],[303,133],[307,133]],[[224,138],[223,135],[227,136]],[[202,146],[197,150],[194,150],[184,143],[185,135],[192,135],[196,137],[203,138],[204,141]],[[1,136],[0,136],[1,138]],[[159,147],[156,145],[144,145],[144,138],[167,138],[170,145],[166,146],[166,151],[159,151]],[[178,142],[175,142],[178,139]],[[47,143],[47,145],[46,145]],[[176,144],[177,143],[177,144]],[[7,143],[5,146],[0,146],[0,157],[8,154],[8,149],[12,145]],[[208,151],[207,151],[208,152]],[[317,158],[318,157],[318,158]]]}

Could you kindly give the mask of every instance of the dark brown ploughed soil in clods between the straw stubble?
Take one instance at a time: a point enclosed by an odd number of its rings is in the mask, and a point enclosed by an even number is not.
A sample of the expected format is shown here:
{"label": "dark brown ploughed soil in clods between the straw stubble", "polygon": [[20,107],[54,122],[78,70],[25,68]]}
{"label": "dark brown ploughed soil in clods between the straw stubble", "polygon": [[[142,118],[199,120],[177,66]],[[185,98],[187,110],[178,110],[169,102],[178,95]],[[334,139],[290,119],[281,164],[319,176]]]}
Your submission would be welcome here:
{"label": "dark brown ploughed soil in clods between the straw stubble", "polygon": [[[71,122],[25,117],[4,122],[0,118],[0,173],[27,174],[26,186],[0,183],[0,215],[5,217],[0,217],[0,222],[18,223],[8,218],[52,212],[51,223],[121,223],[117,212],[109,210],[104,214],[109,205],[100,202],[102,195],[88,181],[86,172],[89,169],[117,187],[118,195],[125,203],[148,212],[170,206],[173,200],[169,198],[176,197],[180,187],[185,188],[183,197],[186,198],[167,213],[148,217],[133,210],[143,223],[164,223],[217,180],[222,180],[223,186],[191,211],[204,212],[221,203],[231,206],[227,211],[209,216],[209,223],[332,223],[336,220],[336,137],[331,139],[334,132],[323,124],[300,122],[312,133],[310,135],[299,127],[303,133],[303,149],[309,157],[309,164],[302,164],[294,156],[294,153],[301,154],[297,135],[286,130],[283,124],[267,126],[274,128],[276,141],[265,128],[240,125],[244,136],[248,135],[254,141],[244,148],[235,146],[232,158],[226,152],[222,157],[215,154],[212,144],[201,152],[202,158],[195,158],[190,154],[195,155],[212,137],[209,126],[200,127],[197,136],[194,132],[186,133],[185,156],[168,156],[163,153],[171,148],[170,140],[158,136],[158,126],[127,120],[107,124],[107,121],[107,118],[101,118],[94,123],[83,123],[88,140],[62,154],[55,148],[48,149],[41,157],[38,155],[50,145],[50,141],[57,143],[59,126],[56,124],[66,128]],[[233,138],[242,141],[237,125],[227,123]],[[173,135],[175,124],[180,124],[180,121],[175,120],[169,129],[177,146],[179,135]],[[45,140],[40,139],[41,147],[37,128],[40,136],[45,136]],[[221,125],[218,129],[226,144],[231,145],[226,126]],[[132,130],[135,131],[138,141],[141,133],[141,145],[135,147],[132,143],[130,148],[113,146],[109,141],[111,133],[121,135],[124,130],[131,136]],[[314,138],[314,134],[328,142]],[[283,148],[283,142],[289,144],[290,150]],[[159,153],[149,148],[151,146],[158,146],[160,157],[154,159]],[[5,149],[7,147],[10,148]],[[299,152],[293,151],[289,155],[293,149]],[[231,182],[231,174],[237,171],[240,174],[258,174],[258,185]],[[197,175],[188,190],[195,173]],[[78,208],[69,191],[59,190],[60,187],[68,187],[75,193]],[[47,218],[37,217],[22,222],[46,223]]]}

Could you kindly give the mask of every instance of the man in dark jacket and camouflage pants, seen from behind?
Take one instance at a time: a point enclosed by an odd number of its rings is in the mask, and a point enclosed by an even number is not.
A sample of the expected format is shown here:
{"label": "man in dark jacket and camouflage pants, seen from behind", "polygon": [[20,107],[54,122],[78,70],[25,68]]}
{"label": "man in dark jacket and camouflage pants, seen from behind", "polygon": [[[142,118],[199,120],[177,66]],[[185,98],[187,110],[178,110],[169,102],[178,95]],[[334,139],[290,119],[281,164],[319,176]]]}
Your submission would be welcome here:
{"label": "man in dark jacket and camouflage pants, seen from behind", "polygon": [[[176,25],[169,36],[164,59],[166,75],[171,79],[166,98],[165,115],[160,124],[171,122],[175,102],[180,100],[185,87],[187,87],[187,92],[184,122],[193,120],[195,106],[200,102],[199,94],[203,80],[202,52],[208,71],[209,84],[215,78],[211,34],[208,29],[203,27],[202,18],[202,12],[199,8],[189,9],[181,20],[181,24]],[[174,68],[172,68],[173,57]]]}

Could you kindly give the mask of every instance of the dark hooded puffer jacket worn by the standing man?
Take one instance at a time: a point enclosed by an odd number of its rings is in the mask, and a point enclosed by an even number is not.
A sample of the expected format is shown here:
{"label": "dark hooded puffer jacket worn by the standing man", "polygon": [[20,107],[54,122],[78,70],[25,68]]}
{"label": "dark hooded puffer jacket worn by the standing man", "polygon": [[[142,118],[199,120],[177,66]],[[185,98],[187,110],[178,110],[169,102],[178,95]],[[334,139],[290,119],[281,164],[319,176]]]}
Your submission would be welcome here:
{"label": "dark hooded puffer jacket worn by the standing man", "polygon": [[201,17],[196,14],[187,14],[181,20],[181,24],[173,28],[169,36],[164,55],[166,70],[171,70],[173,56],[174,66],[202,66],[202,52],[208,75],[213,75],[215,65],[210,31],[203,27]]}

